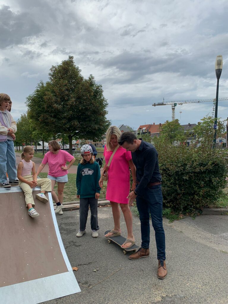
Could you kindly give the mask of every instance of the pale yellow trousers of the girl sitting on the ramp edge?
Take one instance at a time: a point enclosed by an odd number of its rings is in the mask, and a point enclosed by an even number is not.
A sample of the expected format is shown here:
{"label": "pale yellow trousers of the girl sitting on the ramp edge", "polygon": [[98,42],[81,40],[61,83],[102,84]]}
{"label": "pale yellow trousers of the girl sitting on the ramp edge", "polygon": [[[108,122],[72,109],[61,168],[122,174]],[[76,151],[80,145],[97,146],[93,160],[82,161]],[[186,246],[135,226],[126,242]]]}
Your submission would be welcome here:
{"label": "pale yellow trousers of the girl sitting on the ramp edge", "polygon": [[[33,181],[32,175],[25,175],[23,176],[27,181]],[[24,194],[25,194],[25,202],[26,206],[28,204],[32,204],[35,206],[34,200],[33,200],[33,188],[31,188],[28,184],[23,183],[22,181],[19,181],[19,186],[22,188]],[[51,180],[49,178],[37,178],[37,187],[41,187],[40,191],[51,191]]]}

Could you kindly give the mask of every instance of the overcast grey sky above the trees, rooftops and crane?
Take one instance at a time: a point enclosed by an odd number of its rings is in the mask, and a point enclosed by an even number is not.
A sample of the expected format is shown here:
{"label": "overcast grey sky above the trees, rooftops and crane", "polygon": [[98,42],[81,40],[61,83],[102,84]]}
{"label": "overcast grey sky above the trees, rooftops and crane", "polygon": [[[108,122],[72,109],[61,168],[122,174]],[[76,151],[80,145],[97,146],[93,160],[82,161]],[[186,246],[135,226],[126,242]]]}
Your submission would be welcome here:
{"label": "overcast grey sky above the trees, rooftops and crane", "polygon": [[[154,102],[215,98],[220,54],[219,98],[228,97],[227,16],[227,0],[0,0],[0,92],[18,119],[50,67],[73,55],[102,85],[112,124],[164,123],[171,105]],[[176,118],[197,123],[212,107],[178,105]]]}

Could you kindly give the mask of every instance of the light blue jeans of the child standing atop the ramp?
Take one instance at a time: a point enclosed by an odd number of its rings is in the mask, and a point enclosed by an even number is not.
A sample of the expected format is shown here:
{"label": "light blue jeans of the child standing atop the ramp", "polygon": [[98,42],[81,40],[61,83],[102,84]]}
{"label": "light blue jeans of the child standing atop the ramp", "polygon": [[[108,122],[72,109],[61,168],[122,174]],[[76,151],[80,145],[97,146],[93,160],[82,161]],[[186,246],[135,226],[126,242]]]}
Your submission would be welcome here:
{"label": "light blue jeans of the child standing atop the ramp", "polygon": [[0,184],[7,182],[6,172],[9,181],[17,178],[16,157],[13,140],[0,141]]}

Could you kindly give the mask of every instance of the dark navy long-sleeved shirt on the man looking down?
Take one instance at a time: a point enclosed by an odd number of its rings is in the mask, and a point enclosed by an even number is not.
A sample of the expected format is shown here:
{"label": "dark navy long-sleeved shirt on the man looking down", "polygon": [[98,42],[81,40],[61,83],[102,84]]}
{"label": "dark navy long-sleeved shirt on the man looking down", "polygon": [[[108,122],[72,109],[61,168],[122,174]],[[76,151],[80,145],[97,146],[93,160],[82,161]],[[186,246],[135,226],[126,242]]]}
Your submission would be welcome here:
{"label": "dark navy long-sleeved shirt on the man looking down", "polygon": [[139,149],[131,152],[131,155],[136,166],[136,180],[139,183],[135,192],[143,195],[143,190],[148,184],[161,181],[157,150],[151,143],[142,140]]}

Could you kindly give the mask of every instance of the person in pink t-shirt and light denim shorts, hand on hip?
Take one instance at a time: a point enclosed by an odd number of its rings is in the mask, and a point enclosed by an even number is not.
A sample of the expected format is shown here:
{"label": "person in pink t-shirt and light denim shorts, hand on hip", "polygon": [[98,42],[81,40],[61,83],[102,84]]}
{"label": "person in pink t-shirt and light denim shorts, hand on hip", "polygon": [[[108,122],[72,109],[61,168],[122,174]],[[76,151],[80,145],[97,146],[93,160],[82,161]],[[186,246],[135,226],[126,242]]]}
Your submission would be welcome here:
{"label": "person in pink t-shirt and light denim shorts, hand on hip", "polygon": [[[68,181],[67,170],[74,164],[75,158],[67,151],[61,150],[60,145],[56,140],[51,140],[48,143],[48,147],[49,152],[45,154],[36,174],[39,175],[44,166],[48,163],[49,169],[47,177],[51,180],[51,195],[57,205],[55,213],[58,212],[58,214],[63,214],[61,209],[63,208],[64,185]],[[70,163],[66,166],[67,161]],[[58,184],[58,196],[54,192],[56,182]]]}

